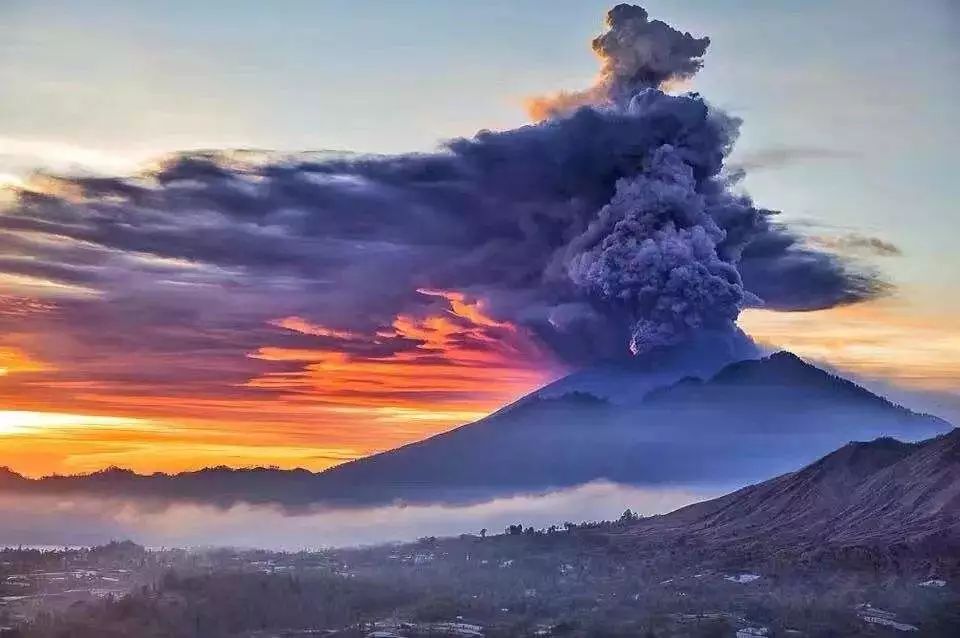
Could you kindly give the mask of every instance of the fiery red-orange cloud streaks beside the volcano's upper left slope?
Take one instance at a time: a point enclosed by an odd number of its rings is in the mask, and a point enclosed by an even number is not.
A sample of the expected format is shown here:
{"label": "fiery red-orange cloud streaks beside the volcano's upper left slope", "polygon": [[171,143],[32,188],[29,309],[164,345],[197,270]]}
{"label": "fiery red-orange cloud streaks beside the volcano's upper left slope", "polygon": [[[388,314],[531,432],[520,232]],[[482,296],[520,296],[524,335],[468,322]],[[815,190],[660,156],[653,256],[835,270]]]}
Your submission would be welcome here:
{"label": "fiery red-orange cloud streaks beside the volcano's upper left slope", "polygon": [[[291,400],[367,408],[405,409],[411,416],[444,406],[479,413],[556,374],[558,366],[516,327],[489,317],[479,301],[457,292],[421,290],[447,308],[425,317],[400,315],[389,328],[366,337],[371,343],[414,344],[370,355],[334,350],[269,347],[250,356],[276,363],[301,363],[297,370],[252,379],[252,388],[281,392]],[[296,327],[288,329],[303,332]],[[322,336],[330,336],[324,330]],[[351,334],[350,339],[357,339]],[[421,416],[421,418],[423,418]]]}

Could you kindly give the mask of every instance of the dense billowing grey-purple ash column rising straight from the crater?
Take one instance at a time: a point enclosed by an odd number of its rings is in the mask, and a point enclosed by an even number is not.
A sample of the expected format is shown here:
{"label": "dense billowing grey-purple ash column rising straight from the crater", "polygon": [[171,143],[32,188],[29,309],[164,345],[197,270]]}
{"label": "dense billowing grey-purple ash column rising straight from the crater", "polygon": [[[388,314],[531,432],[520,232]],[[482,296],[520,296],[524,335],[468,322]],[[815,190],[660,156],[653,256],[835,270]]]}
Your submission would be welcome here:
{"label": "dense billowing grey-purple ash column rising straight from the crater", "polygon": [[725,233],[675,149],[657,149],[646,172],[622,179],[593,230],[593,245],[572,257],[570,276],[629,310],[634,354],[700,328],[733,327],[746,298],[743,283],[718,255]]}

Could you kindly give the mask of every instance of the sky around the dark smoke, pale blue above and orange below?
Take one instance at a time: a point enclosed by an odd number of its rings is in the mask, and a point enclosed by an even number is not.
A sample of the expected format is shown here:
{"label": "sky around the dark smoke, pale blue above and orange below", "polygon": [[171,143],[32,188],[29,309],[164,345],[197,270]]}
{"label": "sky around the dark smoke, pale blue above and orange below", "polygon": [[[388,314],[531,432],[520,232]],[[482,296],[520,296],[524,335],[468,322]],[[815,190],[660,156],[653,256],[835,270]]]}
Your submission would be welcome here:
{"label": "sky around the dark smoke, pale blue above and orange below", "polygon": [[[530,121],[530,96],[593,82],[589,42],[609,8],[0,0],[0,182],[67,201],[70,182],[44,174],[127,175],[196,149],[429,152],[513,129]],[[710,36],[702,71],[682,89],[743,119],[729,159],[746,171],[737,188],[890,283],[851,306],[747,310],[739,325],[893,393],[960,401],[960,8],[647,8]],[[65,250],[31,232],[7,231],[9,245]],[[74,242],[67,266],[105,268]],[[27,275],[31,256],[0,264],[0,465],[34,476],[111,465],[322,469],[476,419],[573,367],[461,290],[409,290],[416,311],[358,306],[376,326],[331,327],[293,282],[246,276],[239,262],[216,280],[235,285],[213,287],[189,258],[127,251],[111,256],[100,289],[63,263]],[[169,284],[146,297],[162,307],[109,294],[140,286],[133,273],[147,271]],[[350,273],[343,285],[391,280]],[[254,279],[276,293],[275,312],[240,330],[228,319],[260,298]],[[170,282],[210,290],[172,294]],[[371,341],[393,345],[358,345]]]}

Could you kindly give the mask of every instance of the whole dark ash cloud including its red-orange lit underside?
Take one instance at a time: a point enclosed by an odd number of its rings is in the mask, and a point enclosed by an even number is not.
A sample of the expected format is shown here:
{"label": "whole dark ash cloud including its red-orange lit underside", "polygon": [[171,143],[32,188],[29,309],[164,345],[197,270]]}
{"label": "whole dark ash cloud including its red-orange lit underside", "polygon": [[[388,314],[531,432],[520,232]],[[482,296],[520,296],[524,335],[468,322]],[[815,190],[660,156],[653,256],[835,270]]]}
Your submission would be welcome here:
{"label": "whole dark ash cloud including its red-orange lit underside", "polygon": [[[342,403],[332,378],[389,407],[418,391],[413,366],[436,373],[425,395],[462,405],[733,332],[748,306],[885,290],[734,192],[738,119],[661,90],[700,68],[707,38],[627,5],[608,27],[575,105],[435,153],[197,152],[132,177],[37,176],[0,215],[0,292],[56,311],[0,312],[0,330],[60,370],[47,382],[127,405]],[[509,380],[499,393],[484,367]]]}

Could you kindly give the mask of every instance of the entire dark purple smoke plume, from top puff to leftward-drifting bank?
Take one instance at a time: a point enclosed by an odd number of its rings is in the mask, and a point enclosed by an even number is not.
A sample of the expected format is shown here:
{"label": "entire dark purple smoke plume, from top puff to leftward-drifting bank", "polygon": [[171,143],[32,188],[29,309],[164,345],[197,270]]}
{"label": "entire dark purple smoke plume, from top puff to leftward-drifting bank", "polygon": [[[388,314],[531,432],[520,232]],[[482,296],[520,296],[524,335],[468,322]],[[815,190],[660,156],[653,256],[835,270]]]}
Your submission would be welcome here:
{"label": "entire dark purple smoke plume, from top puff to leftward-drifting bank", "polygon": [[[218,334],[280,313],[375,334],[419,312],[418,290],[456,290],[575,363],[735,333],[747,305],[809,310],[882,290],[732,190],[739,120],[661,90],[696,72],[708,39],[628,5],[608,25],[594,41],[601,81],[540,123],[434,154],[206,153],[135,179],[61,178],[0,216],[3,252],[31,256],[0,268],[136,307],[128,327],[201,303],[191,320]],[[189,285],[170,274],[178,264]],[[237,301],[211,304],[211,290]]]}

